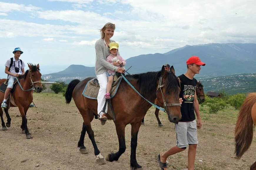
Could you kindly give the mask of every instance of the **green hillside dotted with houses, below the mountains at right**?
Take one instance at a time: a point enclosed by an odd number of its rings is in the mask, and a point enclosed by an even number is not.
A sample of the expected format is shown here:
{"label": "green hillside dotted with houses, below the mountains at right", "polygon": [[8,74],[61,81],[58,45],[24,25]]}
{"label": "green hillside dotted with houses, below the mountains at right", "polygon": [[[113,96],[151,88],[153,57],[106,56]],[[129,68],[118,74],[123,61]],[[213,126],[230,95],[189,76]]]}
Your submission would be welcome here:
{"label": "green hillside dotted with houses, below the mountains at right", "polygon": [[226,91],[228,94],[256,92],[256,73],[233,74],[229,76],[212,77],[208,79],[197,79],[207,91]]}

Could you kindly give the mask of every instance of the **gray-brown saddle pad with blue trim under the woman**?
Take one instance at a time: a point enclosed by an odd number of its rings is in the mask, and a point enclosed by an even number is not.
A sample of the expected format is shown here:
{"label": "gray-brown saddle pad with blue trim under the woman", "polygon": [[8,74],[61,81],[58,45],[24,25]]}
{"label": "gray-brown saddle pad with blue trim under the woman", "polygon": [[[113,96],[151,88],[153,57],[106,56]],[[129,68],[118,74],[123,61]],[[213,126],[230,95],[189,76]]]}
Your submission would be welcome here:
{"label": "gray-brown saddle pad with blue trim under the woman", "polygon": [[[96,79],[96,78],[94,78]],[[99,93],[99,86],[96,86],[95,84],[93,84],[93,81],[95,81],[94,79],[91,79],[87,82],[86,86],[84,87],[84,91],[83,91],[83,96],[87,97],[89,99],[95,99],[97,100],[97,96]],[[112,89],[110,92],[110,97],[114,97],[117,93],[118,87],[121,83],[122,77],[119,77],[117,79],[117,81],[115,81],[112,84]]]}

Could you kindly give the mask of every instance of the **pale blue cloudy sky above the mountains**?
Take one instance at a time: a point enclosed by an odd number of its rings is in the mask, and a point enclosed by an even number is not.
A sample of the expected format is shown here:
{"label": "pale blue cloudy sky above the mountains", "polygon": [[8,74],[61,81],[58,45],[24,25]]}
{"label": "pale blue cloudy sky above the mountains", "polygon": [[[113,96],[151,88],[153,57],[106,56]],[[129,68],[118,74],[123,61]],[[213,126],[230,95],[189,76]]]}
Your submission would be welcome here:
{"label": "pale blue cloudy sky above the mountains", "polygon": [[124,59],[185,45],[256,43],[255,9],[255,0],[0,0],[0,69],[15,47],[43,74],[94,66],[107,22],[116,25],[112,39]]}

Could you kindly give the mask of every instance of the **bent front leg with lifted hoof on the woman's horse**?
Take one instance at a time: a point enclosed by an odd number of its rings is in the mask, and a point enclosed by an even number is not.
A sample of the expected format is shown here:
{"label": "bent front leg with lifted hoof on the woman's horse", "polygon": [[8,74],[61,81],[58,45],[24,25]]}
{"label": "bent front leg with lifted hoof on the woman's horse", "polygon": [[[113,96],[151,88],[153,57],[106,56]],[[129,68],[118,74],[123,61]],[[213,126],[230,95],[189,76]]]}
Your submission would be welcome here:
{"label": "bent front leg with lifted hoof on the woman's horse", "polygon": [[[141,122],[139,122],[141,124]],[[124,153],[126,146],[125,146],[125,125],[116,124],[116,131],[118,136],[119,142],[119,150],[116,153],[108,154],[106,161],[113,162],[118,161],[119,157]]]}

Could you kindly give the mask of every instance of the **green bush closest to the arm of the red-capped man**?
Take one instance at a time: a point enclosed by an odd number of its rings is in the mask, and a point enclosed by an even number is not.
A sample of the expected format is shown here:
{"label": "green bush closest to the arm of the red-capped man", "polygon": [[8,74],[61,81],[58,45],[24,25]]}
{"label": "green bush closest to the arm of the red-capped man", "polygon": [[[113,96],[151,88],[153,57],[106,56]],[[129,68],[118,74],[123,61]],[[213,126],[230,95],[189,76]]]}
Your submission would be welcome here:
{"label": "green bush closest to the arm of the red-capped man", "polygon": [[210,98],[206,96],[205,104],[209,107],[209,113],[217,113],[227,108],[226,102],[219,97]]}

